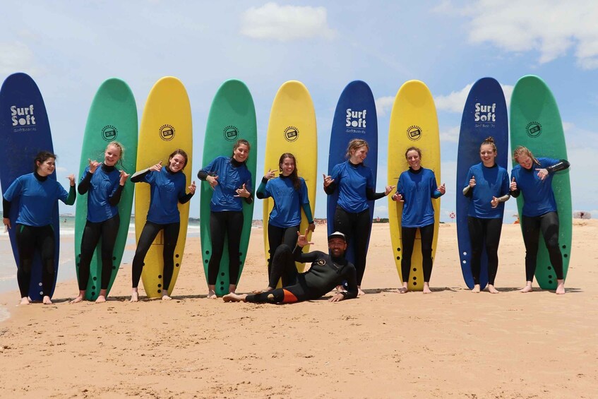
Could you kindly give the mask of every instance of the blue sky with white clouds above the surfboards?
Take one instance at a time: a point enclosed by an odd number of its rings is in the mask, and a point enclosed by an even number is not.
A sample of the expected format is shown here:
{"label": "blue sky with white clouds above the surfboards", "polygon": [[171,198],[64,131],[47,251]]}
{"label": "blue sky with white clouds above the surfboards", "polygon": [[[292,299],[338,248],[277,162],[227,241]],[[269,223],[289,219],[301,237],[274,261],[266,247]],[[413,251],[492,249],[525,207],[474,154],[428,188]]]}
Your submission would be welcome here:
{"label": "blue sky with white clouds above the surfboards", "polygon": [[[441,220],[448,220],[455,208],[458,131],[470,86],[492,76],[509,103],[518,78],[531,73],[546,81],[561,109],[573,208],[595,217],[598,5],[564,3],[14,1],[3,5],[0,79],[23,71],[39,85],[59,155],[59,178],[76,172],[91,100],[113,76],[131,86],[139,117],[159,78],[181,79],[193,112],[193,174],[207,162],[201,160],[201,146],[217,88],[229,78],[244,81],[256,104],[259,145],[252,156],[258,157],[258,176],[270,107],[282,83],[301,81],[311,93],[322,173],[338,97],[350,81],[366,81],[378,107],[378,191],[386,181],[393,99],[402,83],[419,79],[438,109],[441,175],[448,191]],[[198,208],[199,198],[193,198],[192,216]],[[509,201],[506,215],[513,213],[515,201]],[[376,215],[387,215],[385,200],[377,202]],[[261,201],[254,216],[261,218]],[[321,181],[316,217],[325,217]]]}

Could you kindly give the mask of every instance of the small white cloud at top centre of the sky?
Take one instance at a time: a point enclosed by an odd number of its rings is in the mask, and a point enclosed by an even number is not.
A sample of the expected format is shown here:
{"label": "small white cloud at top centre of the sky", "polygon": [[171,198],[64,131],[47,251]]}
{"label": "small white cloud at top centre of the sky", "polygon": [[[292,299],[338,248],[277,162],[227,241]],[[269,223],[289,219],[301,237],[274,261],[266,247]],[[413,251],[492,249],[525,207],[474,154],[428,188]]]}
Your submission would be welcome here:
{"label": "small white cloud at top centre of the sky", "polygon": [[333,39],[336,31],[328,26],[325,7],[279,6],[267,3],[251,7],[241,17],[241,34],[254,39],[292,40],[323,37]]}

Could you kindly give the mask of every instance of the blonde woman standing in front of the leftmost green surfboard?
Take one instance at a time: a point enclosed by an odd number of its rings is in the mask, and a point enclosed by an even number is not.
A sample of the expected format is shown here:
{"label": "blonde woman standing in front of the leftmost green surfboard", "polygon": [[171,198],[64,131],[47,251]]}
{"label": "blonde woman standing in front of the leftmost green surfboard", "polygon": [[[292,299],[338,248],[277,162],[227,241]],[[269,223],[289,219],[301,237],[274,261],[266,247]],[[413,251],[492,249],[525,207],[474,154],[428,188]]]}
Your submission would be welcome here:
{"label": "blonde woman standing in front of the leftmost green surfboard", "polygon": [[124,148],[121,143],[112,141],[104,150],[104,162],[89,160],[89,166],[85,167],[79,181],[77,189],[79,194],[88,194],[88,217],[81,238],[79,294],[71,304],[85,299],[85,290],[90,278],[90,263],[100,239],[102,239],[102,280],[100,295],[95,302],[106,302],[106,293],[112,276],[112,253],[120,227],[117,206],[129,176],[124,170],[116,169],[116,163],[123,157]]}

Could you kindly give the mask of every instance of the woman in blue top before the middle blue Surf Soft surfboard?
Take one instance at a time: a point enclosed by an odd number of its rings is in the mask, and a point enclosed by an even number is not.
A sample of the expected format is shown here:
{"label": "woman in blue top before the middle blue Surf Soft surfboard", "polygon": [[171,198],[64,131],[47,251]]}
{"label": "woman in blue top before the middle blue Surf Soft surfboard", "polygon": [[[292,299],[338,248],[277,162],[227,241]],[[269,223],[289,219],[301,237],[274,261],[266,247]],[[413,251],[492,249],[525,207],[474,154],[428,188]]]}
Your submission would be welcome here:
{"label": "woman in blue top before the middle blue Surf Soft surfboard", "polygon": [[368,156],[369,145],[365,140],[354,138],[349,141],[346,162],[333,167],[330,176],[324,175],[324,191],[330,195],[339,190],[338,203],[335,210],[334,230],[342,232],[347,242],[353,244],[357,270],[357,287],[359,295],[361,280],[366,270],[367,244],[371,231],[369,205],[367,201],[388,196],[395,186],[386,186],[383,193],[376,193],[373,185],[373,174],[364,165]]}

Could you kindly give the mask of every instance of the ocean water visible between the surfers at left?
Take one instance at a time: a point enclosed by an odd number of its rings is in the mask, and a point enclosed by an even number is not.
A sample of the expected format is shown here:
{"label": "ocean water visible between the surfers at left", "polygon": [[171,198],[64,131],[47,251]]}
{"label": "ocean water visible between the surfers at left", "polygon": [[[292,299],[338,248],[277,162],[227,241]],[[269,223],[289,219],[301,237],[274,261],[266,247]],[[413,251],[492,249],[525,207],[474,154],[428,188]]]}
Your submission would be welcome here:
{"label": "ocean water visible between the surfers at left", "polygon": [[[190,218],[187,227],[187,237],[199,237],[199,219]],[[73,215],[60,217],[60,256],[58,267],[58,281],[73,280],[75,270],[75,218]],[[131,217],[128,225],[126,246],[135,245],[135,218]],[[122,263],[131,263],[135,251],[125,249]],[[0,292],[18,290],[17,268],[8,233],[0,231]],[[1,315],[0,315],[1,316]],[[1,317],[0,317],[1,319]]]}

